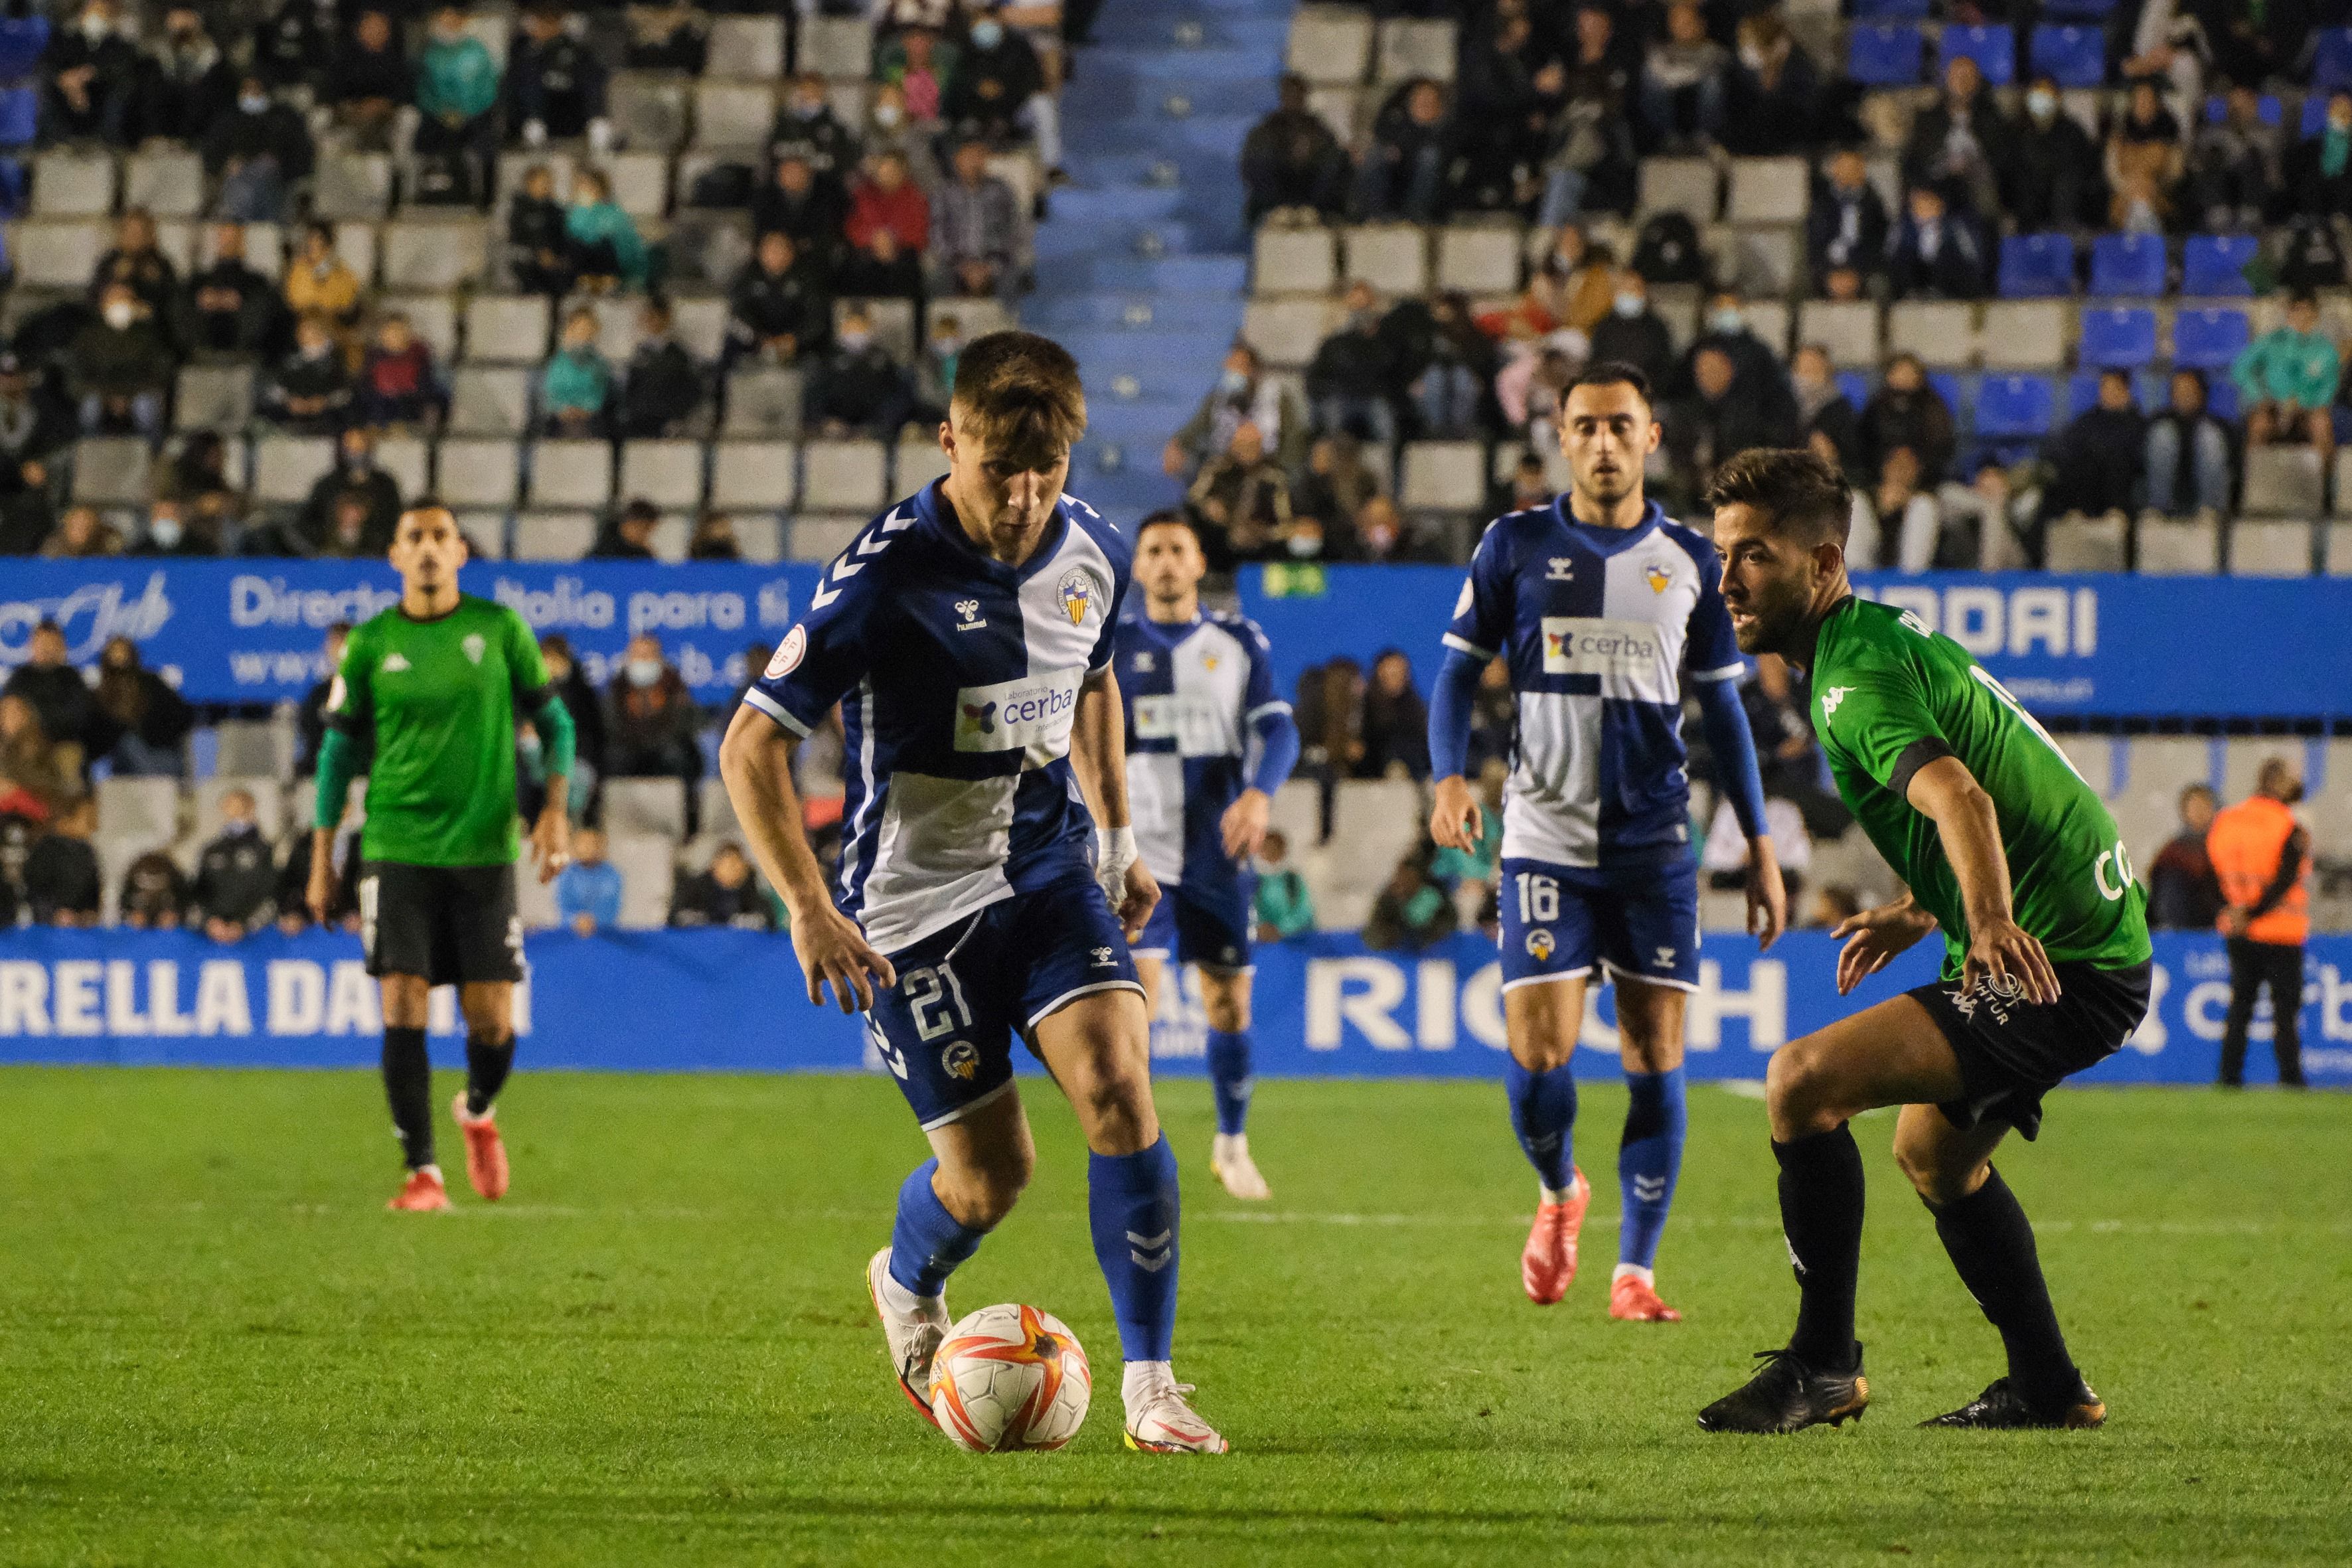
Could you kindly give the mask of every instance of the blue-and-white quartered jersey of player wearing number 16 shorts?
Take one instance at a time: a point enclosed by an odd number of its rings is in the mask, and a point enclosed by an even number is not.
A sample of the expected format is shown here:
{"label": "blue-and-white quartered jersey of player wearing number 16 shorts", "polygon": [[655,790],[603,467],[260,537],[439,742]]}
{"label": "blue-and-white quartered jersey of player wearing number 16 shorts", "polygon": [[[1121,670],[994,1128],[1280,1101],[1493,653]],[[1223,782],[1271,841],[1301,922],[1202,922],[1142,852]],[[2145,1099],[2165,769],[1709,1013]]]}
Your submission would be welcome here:
{"label": "blue-and-white quartered jersey of player wearing number 16 shorts", "polygon": [[1602,865],[1689,844],[1682,672],[1740,672],[1722,576],[1715,545],[1656,501],[1630,529],[1576,522],[1566,496],[1486,527],[1444,642],[1505,658],[1519,696],[1505,858]]}

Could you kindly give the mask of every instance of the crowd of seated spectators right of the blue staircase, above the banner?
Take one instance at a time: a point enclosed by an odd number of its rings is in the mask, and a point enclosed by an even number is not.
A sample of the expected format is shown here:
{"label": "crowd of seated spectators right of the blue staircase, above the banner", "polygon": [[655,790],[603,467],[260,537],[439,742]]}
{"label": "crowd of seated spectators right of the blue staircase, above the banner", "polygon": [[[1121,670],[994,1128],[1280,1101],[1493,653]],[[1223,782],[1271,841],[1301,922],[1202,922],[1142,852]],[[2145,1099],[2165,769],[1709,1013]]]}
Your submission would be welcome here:
{"label": "crowd of seated spectators right of the blue staircase, above the banner", "polygon": [[[1279,106],[1242,148],[1244,216],[1277,228],[1515,219],[1526,226],[1526,282],[1517,299],[1390,299],[1352,282],[1296,381],[1268,386],[1254,357],[1228,357],[1167,454],[1225,557],[1392,559],[1364,543],[1371,496],[1341,505],[1319,491],[1301,505],[1310,463],[1331,463],[1322,442],[1343,442],[1348,463],[1371,447],[1383,491],[1385,449],[1399,440],[1475,437],[1541,456],[1555,442],[1557,388],[1588,360],[1649,376],[1665,425],[1651,489],[1670,505],[1696,505],[1740,447],[1835,456],[1858,491],[1863,567],[2042,564],[2060,517],[2218,522],[2239,501],[2249,449],[2307,444],[2326,465],[2352,430],[2352,395],[2338,374],[2343,324],[2321,324],[2310,292],[2347,282],[2352,82],[2314,59],[2321,28],[2352,14],[2298,5],[2265,21],[2263,7],[2187,0],[2070,9],[2063,21],[2089,33],[2098,59],[2070,63],[2060,87],[2042,45],[2030,52],[2032,24],[2049,21],[2037,7],[1936,12],[1952,28],[1994,21],[2009,35],[2018,24],[2016,80],[2002,66],[1987,82],[1947,38],[1929,87],[1884,92],[1882,78],[1849,75],[1842,24],[1790,19],[1778,5],[1376,7],[1458,14],[1451,80],[1369,89],[1355,110],[1362,134],[1350,136],[1352,89],[1327,106],[1308,80],[1284,78]],[[1785,303],[1994,299],[2006,292],[2004,244],[2032,235],[2065,240],[2067,256],[2100,235],[2159,247],[2256,235],[2270,256],[2246,277],[2286,301],[2284,324],[2234,360],[2209,355],[2161,378],[2103,376],[2093,393],[2086,374],[2046,430],[1978,437],[1947,376],[1964,364],[1893,355],[1877,376],[1839,378],[1828,346],[1783,353],[1790,346],[1755,334],[1755,301],[1726,287],[1733,259],[1710,254],[1698,223],[1637,212],[1649,158],[1757,155],[1811,165]],[[2067,263],[2060,292],[2079,284],[2079,266]],[[1261,292],[1284,287],[1258,280]],[[1663,289],[1700,294],[1696,334],[1679,348]],[[2147,294],[2164,289],[2159,277]],[[1776,310],[1773,327],[1783,320]],[[1232,515],[1235,475],[1249,475],[1251,515]],[[1512,498],[1503,484],[1491,496]],[[1468,543],[1437,522],[1404,517],[1402,552]]]}

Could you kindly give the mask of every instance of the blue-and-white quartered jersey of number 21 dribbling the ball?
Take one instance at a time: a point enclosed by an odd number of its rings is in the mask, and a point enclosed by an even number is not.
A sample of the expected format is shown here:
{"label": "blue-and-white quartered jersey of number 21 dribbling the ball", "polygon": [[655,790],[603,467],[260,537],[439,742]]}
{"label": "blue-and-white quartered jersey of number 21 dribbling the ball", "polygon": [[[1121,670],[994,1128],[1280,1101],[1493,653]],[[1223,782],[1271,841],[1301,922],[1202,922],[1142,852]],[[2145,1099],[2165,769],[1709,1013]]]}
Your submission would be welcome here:
{"label": "blue-and-white quartered jersey of number 21 dribbling the ball", "polygon": [[1110,668],[1129,545],[1063,496],[1023,567],[981,555],[938,482],[826,567],[743,701],[793,733],[842,705],[835,905],[896,952],[1091,863],[1070,773],[1080,686]]}

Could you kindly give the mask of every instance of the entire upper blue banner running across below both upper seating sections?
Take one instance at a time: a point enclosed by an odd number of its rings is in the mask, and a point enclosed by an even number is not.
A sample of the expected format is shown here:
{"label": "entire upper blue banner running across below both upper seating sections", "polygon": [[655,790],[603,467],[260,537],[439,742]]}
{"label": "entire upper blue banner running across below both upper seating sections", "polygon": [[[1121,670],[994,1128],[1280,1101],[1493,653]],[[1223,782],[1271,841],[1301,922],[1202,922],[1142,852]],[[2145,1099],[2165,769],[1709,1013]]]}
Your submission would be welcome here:
{"label": "entire upper blue banner running across below both upper seating sections", "polygon": [[[513,604],[541,635],[564,632],[593,682],[635,632],[654,632],[703,701],[743,684],[743,646],[774,644],[807,604],[818,567],[788,562],[475,562],[468,592]],[[1329,567],[1319,592],[1296,569],[1251,567],[1242,607],[1275,644],[1275,677],[1334,654],[1437,663],[1461,571]],[[1268,592],[1268,588],[1282,592]],[[2333,717],[2352,712],[2352,578],[2143,578],[2042,574],[1870,574],[1860,592],[1950,632],[2034,712],[2084,717]],[[275,703],[322,679],[320,642],[397,599],[372,562],[7,559],[0,564],[0,675],[33,625],[66,628],[89,665],[108,637],[139,642],[200,703]],[[2249,642],[2246,628],[2260,628]],[[2260,663],[2260,677],[2249,670]]]}

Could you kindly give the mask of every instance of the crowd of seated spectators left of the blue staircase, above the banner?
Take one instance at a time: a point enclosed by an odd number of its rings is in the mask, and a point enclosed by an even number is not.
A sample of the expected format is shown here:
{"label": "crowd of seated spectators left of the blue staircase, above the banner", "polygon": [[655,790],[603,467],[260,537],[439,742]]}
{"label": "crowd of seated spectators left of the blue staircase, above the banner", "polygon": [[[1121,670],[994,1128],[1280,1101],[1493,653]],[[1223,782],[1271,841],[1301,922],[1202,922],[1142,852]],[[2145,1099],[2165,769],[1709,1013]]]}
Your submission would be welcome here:
{"label": "crowd of seated spectators left of the blue staircase, above the banner", "polygon": [[[616,73],[731,75],[708,59],[713,16],[684,5],[553,5],[506,16],[383,0],[134,7],[85,0],[54,16],[38,63],[42,146],[200,153],[198,263],[158,244],[127,207],[87,289],[19,299],[0,355],[0,552],[318,552],[334,517],[249,517],[240,484],[207,503],[167,494],[158,463],[146,515],[68,527],[71,454],[85,435],[162,444],[179,423],[179,371],[249,364],[254,435],[435,435],[452,367],[395,301],[376,294],[313,209],[322,165],[388,153],[402,209],[485,212],[489,287],[553,301],[557,327],[532,381],[532,425],[562,437],[710,437],[729,374],[793,367],[821,435],[889,440],[936,414],[960,350],[955,299],[997,310],[1030,287],[1033,205],[990,160],[1035,158],[1058,179],[1063,33],[1096,5],[1051,0],[720,7],[807,16],[870,9],[873,54],[849,108],[842,82],[788,78],[764,143],[680,174],[677,207],[748,228],[729,277],[675,282],[668,221],[616,202],[612,160],[630,148]],[[840,68],[840,61],[835,61]],[[666,150],[666,148],[663,148]],[[513,188],[506,188],[506,186]],[[285,226],[285,268],[249,261],[247,226]],[[684,240],[701,252],[703,230]],[[694,256],[701,261],[701,254]],[[727,329],[696,353],[673,329],[675,289],[724,294]],[[642,296],[633,348],[607,350],[588,310]],[[877,331],[849,301],[913,313]],[[835,329],[840,303],[840,331]],[[896,320],[896,317],[894,317]],[[240,433],[230,433],[235,437]],[[193,447],[202,435],[181,435]],[[165,522],[174,517],[176,527]],[[162,527],[158,527],[162,524]],[[252,524],[252,527],[247,527]]]}

